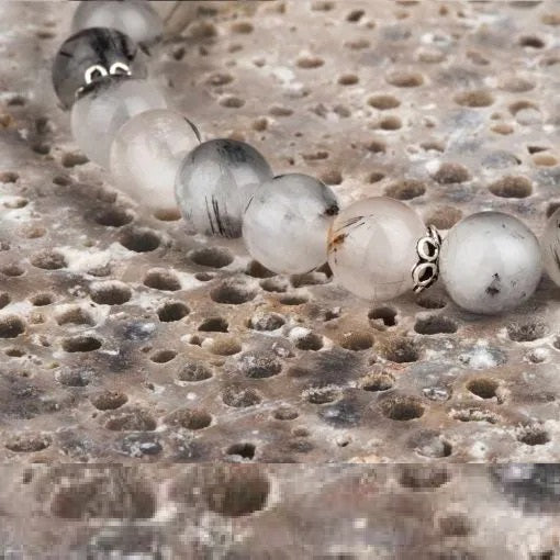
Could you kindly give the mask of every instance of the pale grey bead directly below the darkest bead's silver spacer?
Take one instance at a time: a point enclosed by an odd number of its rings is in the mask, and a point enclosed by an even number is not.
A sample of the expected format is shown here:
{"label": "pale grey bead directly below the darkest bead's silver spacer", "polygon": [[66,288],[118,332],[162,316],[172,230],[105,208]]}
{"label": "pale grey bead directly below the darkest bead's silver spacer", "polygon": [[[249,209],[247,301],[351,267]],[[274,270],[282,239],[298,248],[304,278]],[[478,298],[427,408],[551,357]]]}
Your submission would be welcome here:
{"label": "pale grey bead directly below the darkest bead's silver spacer", "polygon": [[116,131],[136,114],[166,108],[160,91],[145,80],[125,76],[98,80],[87,86],[74,103],[74,138],[91,161],[108,168]]}

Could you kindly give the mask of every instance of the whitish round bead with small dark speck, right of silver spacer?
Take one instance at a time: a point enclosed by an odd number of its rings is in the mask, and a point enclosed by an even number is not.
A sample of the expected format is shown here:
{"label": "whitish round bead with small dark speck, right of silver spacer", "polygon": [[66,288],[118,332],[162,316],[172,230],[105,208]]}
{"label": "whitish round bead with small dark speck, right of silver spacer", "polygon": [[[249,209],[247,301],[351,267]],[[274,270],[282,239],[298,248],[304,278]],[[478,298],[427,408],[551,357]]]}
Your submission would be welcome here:
{"label": "whitish round bead with small dark speck, right of silver spacer", "polygon": [[502,212],[472,214],[448,233],[439,271],[451,299],[473,313],[512,310],[537,289],[540,247],[519,220]]}

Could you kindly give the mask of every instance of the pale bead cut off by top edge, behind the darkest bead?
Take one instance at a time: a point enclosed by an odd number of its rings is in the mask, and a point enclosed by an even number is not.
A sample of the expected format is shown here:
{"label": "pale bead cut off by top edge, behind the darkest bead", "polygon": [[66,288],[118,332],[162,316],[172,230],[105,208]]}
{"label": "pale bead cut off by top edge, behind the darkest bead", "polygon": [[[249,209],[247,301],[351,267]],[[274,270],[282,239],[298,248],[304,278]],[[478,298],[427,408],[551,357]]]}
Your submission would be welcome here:
{"label": "pale bead cut off by top edge, behind the darkest bead", "polygon": [[145,45],[155,43],[164,33],[159,15],[144,0],[80,2],[74,12],[72,30],[88,27],[112,27]]}

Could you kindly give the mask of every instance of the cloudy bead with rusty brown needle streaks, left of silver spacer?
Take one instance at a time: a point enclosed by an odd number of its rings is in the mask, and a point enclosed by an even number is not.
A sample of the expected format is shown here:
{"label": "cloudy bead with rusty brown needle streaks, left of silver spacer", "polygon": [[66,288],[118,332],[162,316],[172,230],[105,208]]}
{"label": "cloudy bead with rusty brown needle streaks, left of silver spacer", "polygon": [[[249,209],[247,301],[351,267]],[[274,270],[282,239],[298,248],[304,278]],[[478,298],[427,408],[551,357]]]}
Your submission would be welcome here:
{"label": "cloudy bead with rusty brown needle streaks, left of silver spacer", "polygon": [[373,197],[336,217],[328,235],[328,264],[349,292],[377,302],[413,289],[416,245],[426,235],[418,214],[404,202]]}

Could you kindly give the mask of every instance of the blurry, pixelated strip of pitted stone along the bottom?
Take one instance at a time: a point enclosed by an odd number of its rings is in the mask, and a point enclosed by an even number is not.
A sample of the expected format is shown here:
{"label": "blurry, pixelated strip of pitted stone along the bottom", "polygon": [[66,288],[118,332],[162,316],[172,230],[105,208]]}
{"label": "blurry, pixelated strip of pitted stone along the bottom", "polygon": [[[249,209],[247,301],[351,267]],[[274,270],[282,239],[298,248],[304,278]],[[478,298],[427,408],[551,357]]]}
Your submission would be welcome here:
{"label": "blurry, pixelated strip of pitted stone along the bottom", "polygon": [[18,560],[547,559],[559,550],[558,471],[2,467],[0,539]]}

